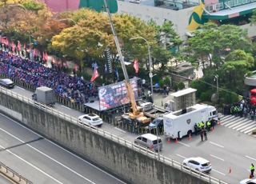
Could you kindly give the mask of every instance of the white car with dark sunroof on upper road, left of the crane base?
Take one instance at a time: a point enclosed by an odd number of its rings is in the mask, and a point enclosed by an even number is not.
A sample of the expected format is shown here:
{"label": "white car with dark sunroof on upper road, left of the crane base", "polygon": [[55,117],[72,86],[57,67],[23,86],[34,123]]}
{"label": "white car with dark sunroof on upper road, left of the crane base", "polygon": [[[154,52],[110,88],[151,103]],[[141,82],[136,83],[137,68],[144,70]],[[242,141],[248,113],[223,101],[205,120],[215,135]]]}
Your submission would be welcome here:
{"label": "white car with dark sunroof on upper road, left of the crane base", "polygon": [[98,126],[101,127],[103,124],[102,118],[97,114],[84,114],[78,117],[78,122],[87,126]]}

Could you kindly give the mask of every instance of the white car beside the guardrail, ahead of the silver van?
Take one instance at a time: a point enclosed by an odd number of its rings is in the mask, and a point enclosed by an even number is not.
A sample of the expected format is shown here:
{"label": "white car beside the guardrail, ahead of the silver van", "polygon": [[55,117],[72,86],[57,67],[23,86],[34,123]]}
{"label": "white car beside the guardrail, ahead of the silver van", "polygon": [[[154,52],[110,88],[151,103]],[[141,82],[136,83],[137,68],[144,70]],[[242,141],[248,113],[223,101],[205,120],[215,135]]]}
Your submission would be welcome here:
{"label": "white car beside the guardrail, ahead of the silver van", "polygon": [[190,166],[194,170],[198,170],[200,172],[209,173],[211,170],[210,162],[205,158],[201,158],[201,157],[186,158],[183,160],[182,164],[184,166]]}

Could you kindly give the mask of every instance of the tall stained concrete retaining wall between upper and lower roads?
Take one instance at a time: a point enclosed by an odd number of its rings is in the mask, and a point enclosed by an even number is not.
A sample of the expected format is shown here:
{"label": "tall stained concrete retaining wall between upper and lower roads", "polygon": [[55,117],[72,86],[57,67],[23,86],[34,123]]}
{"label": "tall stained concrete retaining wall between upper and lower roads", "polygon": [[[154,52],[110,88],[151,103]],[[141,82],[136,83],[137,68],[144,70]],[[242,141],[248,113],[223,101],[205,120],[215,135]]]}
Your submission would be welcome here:
{"label": "tall stained concrete retaining wall between upper and lower roads", "polygon": [[208,183],[130,147],[0,93],[0,110],[130,183]]}

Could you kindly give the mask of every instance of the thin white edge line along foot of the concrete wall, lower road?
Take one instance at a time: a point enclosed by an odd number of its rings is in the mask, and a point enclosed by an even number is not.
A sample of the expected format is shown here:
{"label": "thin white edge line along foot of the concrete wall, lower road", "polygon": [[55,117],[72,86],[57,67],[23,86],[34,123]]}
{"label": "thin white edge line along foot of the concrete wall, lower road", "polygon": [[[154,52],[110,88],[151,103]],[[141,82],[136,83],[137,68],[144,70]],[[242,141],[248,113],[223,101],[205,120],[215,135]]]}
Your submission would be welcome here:
{"label": "thin white edge line along foot of the concrete wall, lower road", "polygon": [[[2,114],[2,113],[0,113],[0,114]],[[2,114],[2,116],[4,116],[4,117],[6,117],[7,119],[9,119],[11,122],[16,123],[18,126],[22,126],[22,128],[24,128],[24,129],[26,129],[26,130],[29,130],[29,131],[32,132],[33,134],[36,134],[36,135],[38,135],[39,137],[42,137],[41,134],[38,134],[38,133],[34,132],[33,130],[30,130],[28,127],[23,126],[22,124],[16,122],[16,121],[15,121],[14,119],[12,119],[12,118],[9,118],[9,117],[6,116],[5,114]],[[62,146],[59,146],[59,145],[56,144],[55,142],[52,142],[52,141],[50,141],[49,139],[47,139],[47,138],[45,138],[45,137],[44,137],[44,140],[46,140],[47,142],[50,142],[50,143],[53,144],[54,146],[57,146],[59,149],[64,150],[66,153],[71,154],[71,155],[74,156],[75,158],[80,159],[82,162],[85,162],[86,164],[88,164],[88,165],[90,165],[90,166],[93,166],[95,169],[100,170],[102,173],[104,173],[104,174],[110,176],[110,178],[114,178],[114,179],[118,180],[118,182],[122,182],[122,180],[120,180],[119,178],[114,177],[112,174],[109,174],[108,172],[106,172],[105,170],[102,170],[102,169],[99,168],[98,166],[94,166],[92,163],[90,163],[90,162],[88,162],[88,161],[82,159],[82,158],[79,157],[78,155],[76,155],[76,154],[70,152],[69,150],[64,149]],[[122,183],[126,184],[126,182],[122,182]]]}

